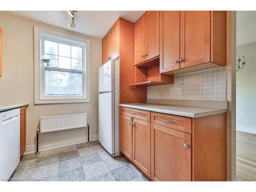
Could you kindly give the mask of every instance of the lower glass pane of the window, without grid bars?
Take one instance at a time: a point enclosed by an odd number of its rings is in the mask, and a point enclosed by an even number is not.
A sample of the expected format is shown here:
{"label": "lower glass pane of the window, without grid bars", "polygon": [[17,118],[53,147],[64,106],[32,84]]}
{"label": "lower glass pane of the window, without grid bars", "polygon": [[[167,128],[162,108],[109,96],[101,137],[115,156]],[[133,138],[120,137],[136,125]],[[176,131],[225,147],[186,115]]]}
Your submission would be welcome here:
{"label": "lower glass pane of the window, without grid bars", "polygon": [[46,96],[82,96],[82,74],[45,71]]}

